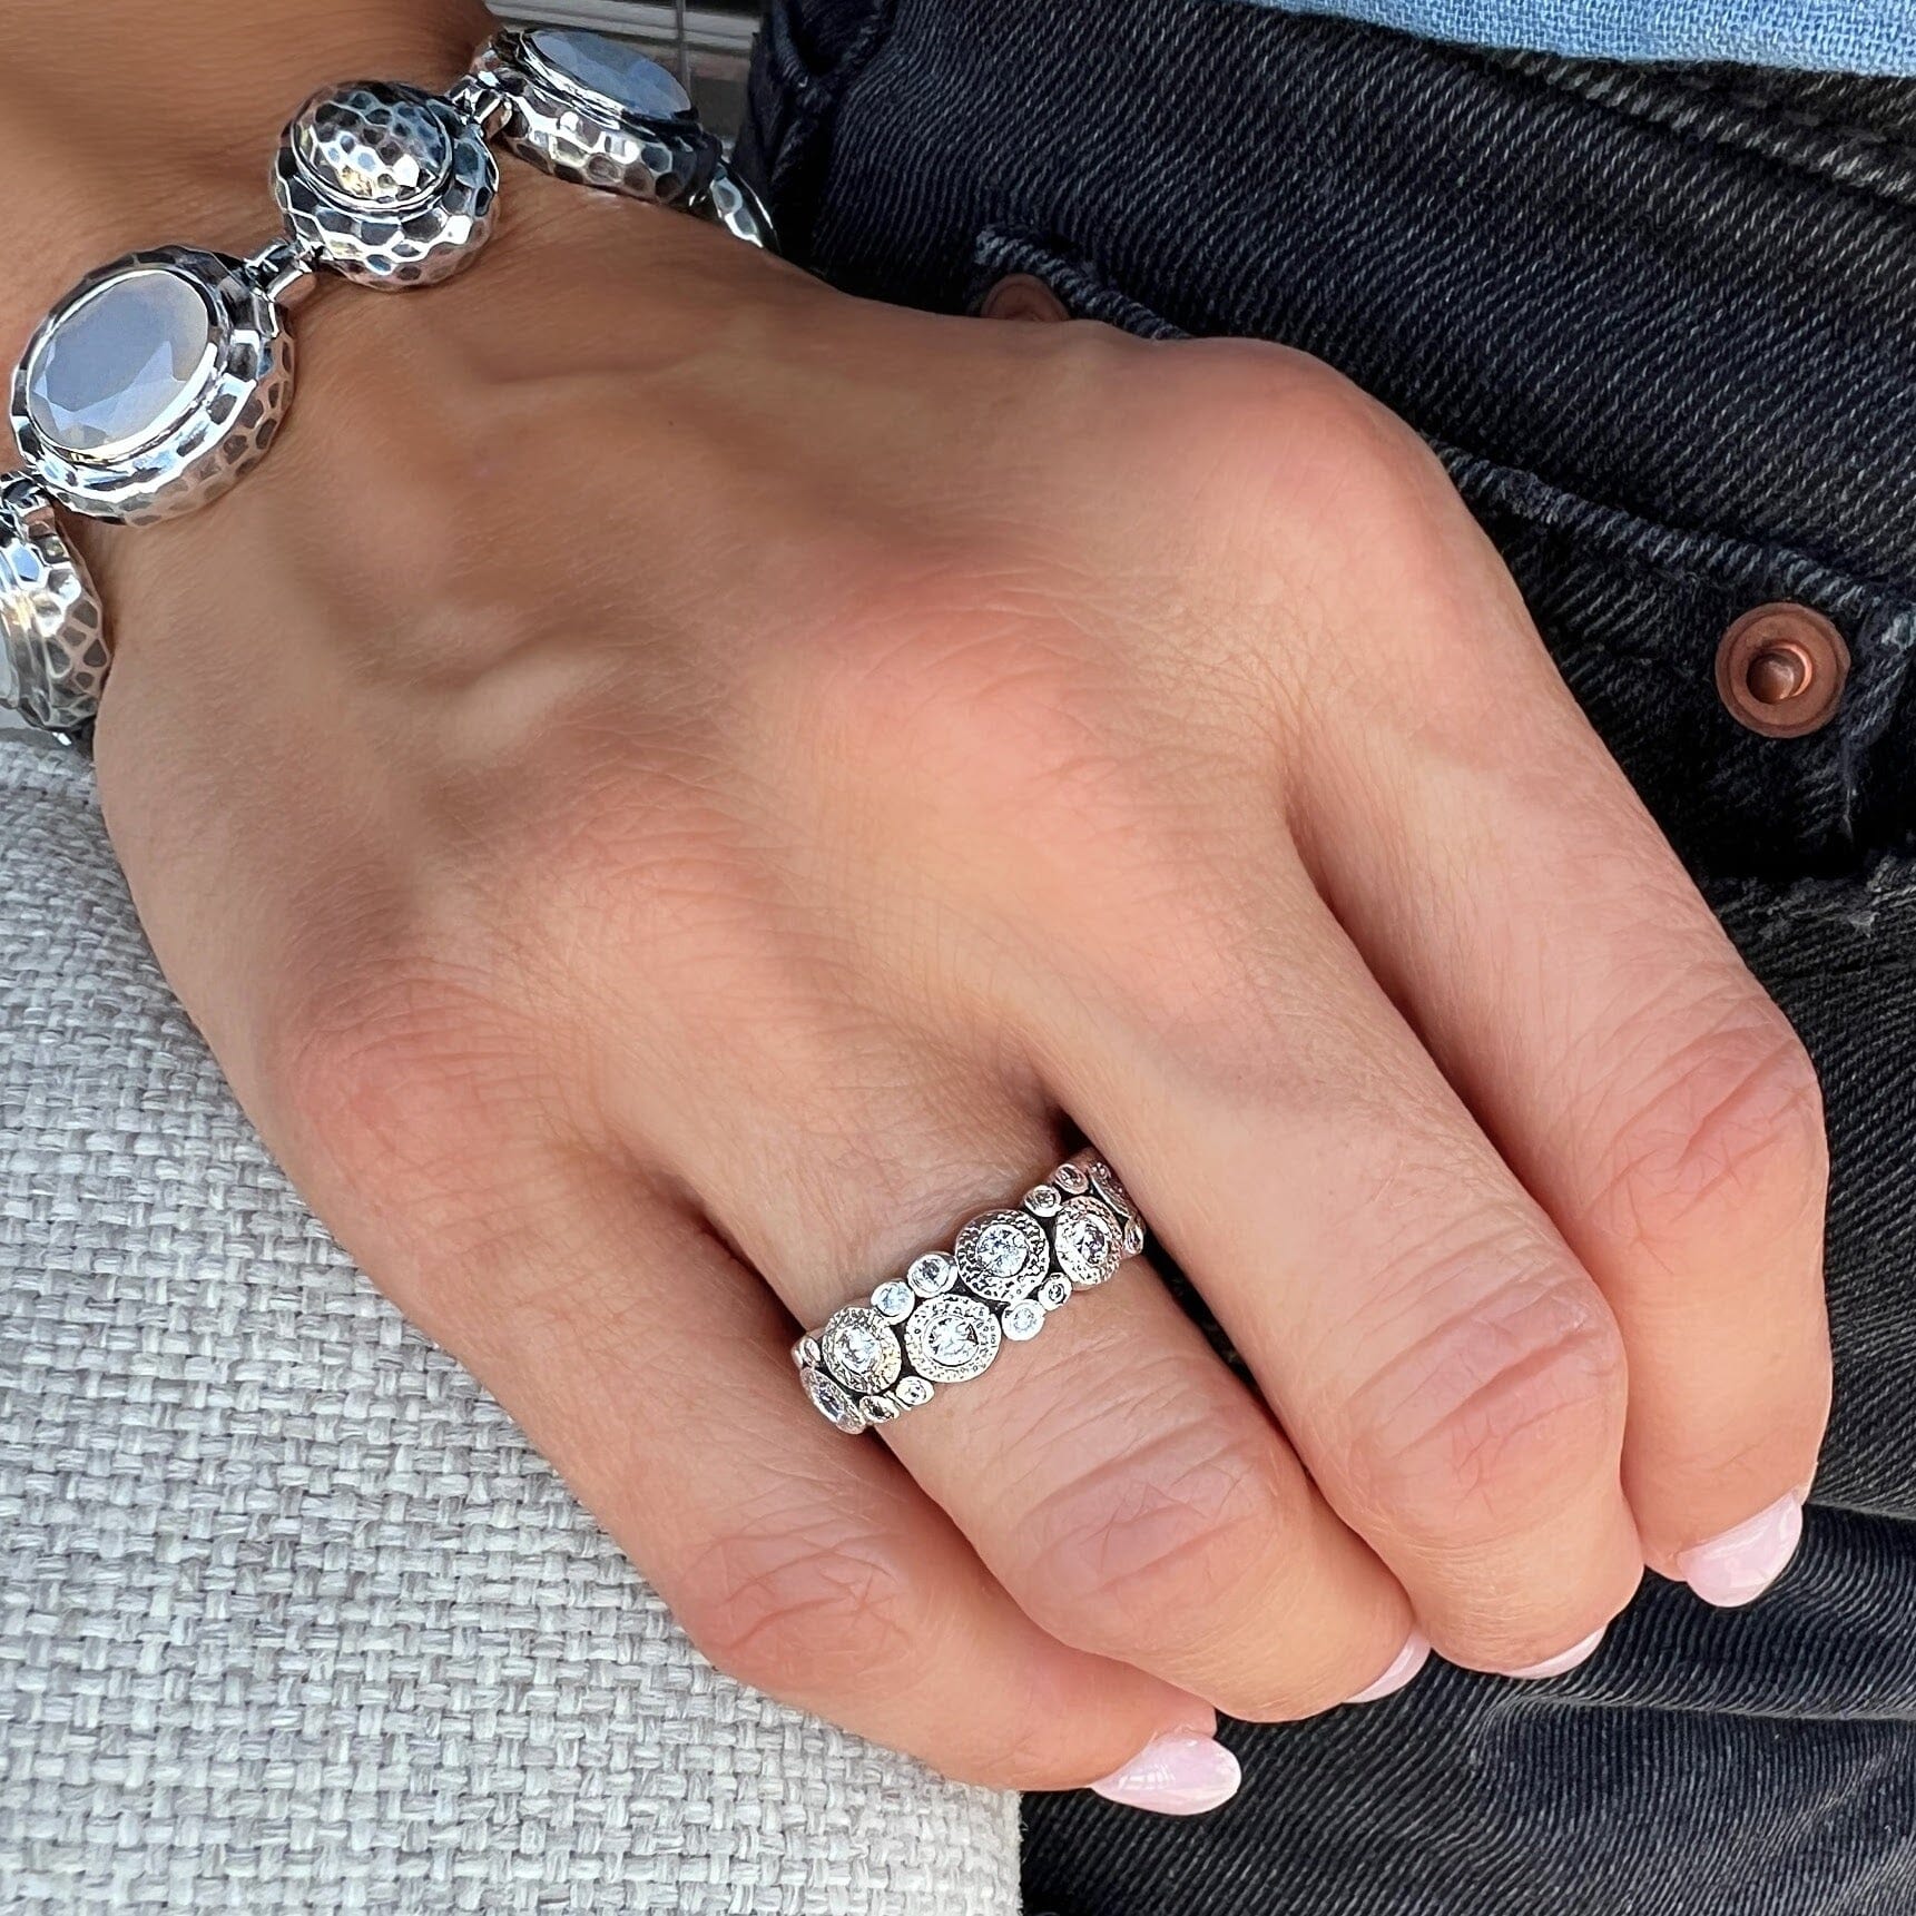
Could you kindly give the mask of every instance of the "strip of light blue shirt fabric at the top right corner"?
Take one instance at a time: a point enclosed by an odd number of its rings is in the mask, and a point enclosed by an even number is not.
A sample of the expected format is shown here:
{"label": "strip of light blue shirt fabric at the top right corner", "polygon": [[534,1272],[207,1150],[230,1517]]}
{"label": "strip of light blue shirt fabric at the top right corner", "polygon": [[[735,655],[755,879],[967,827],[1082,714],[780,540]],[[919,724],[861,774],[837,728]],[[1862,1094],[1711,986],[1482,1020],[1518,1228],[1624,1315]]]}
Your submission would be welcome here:
{"label": "strip of light blue shirt fabric at the top right corner", "polygon": [[1259,0],[1433,40],[1598,59],[1916,75],[1916,0]]}

